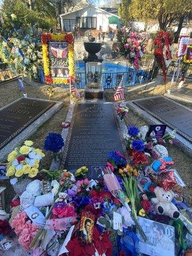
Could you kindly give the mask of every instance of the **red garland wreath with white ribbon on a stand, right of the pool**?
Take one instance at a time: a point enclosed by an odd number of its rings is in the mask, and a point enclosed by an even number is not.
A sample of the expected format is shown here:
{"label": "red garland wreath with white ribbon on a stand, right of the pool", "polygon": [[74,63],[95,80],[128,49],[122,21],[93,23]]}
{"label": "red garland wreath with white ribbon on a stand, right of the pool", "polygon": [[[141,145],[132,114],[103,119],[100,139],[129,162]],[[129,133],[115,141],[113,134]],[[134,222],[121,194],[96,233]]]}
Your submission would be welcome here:
{"label": "red garland wreath with white ribbon on a stand, right of the pool", "polygon": [[154,39],[154,56],[156,57],[159,67],[163,70],[163,80],[166,81],[166,68],[172,60],[172,36],[170,32],[158,31]]}

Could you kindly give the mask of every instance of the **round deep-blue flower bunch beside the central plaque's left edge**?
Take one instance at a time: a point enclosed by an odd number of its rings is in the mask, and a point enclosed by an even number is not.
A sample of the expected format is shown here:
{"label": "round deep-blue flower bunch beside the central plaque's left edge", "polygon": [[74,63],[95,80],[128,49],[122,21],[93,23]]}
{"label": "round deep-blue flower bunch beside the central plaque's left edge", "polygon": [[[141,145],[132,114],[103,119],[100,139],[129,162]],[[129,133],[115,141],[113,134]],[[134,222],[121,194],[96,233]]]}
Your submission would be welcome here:
{"label": "round deep-blue flower bunch beside the central plaque's left edge", "polygon": [[44,149],[50,150],[52,152],[59,152],[60,149],[64,146],[63,138],[61,134],[58,133],[49,133],[45,139]]}

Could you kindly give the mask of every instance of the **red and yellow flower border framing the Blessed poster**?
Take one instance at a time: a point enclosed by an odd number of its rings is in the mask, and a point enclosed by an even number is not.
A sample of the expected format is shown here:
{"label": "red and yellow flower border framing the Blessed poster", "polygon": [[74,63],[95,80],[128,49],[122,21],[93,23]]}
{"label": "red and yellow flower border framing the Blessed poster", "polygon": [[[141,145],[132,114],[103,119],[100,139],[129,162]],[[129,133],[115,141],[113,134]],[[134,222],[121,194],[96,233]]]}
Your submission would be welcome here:
{"label": "red and yellow flower border framing the Blessed poster", "polygon": [[[65,41],[68,43],[68,69],[69,77],[51,77],[49,68],[48,42]],[[44,60],[45,81],[48,84],[69,84],[74,81],[75,63],[74,63],[74,36],[72,33],[42,33],[42,51]]]}

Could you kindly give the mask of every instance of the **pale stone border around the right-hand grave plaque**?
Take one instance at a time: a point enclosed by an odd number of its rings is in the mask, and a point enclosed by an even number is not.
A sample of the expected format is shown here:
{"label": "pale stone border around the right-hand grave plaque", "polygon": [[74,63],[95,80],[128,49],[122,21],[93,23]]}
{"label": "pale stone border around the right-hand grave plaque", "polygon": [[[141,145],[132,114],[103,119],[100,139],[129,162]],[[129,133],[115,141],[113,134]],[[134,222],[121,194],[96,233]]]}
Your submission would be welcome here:
{"label": "pale stone border around the right-hand grave plaque", "polygon": [[[147,97],[145,99],[149,100],[149,99],[157,98],[157,97],[159,97],[159,96]],[[166,98],[166,97],[164,97],[164,98]],[[147,113],[147,111],[141,109],[139,106],[137,106],[136,104],[133,103],[133,102],[140,102],[140,100],[143,100],[143,99],[129,100],[129,101],[127,101],[127,105],[134,113],[136,113],[136,115],[143,118],[143,120],[145,120],[148,124],[164,124],[164,122],[161,122],[159,119],[150,115],[149,113]],[[169,99],[169,100],[172,100],[172,99]],[[178,104],[179,106],[181,105],[181,104],[175,102],[174,100],[172,100],[172,101],[175,104]],[[181,106],[186,108],[183,105],[181,105]],[[173,129],[170,129],[170,127],[168,127],[168,126],[166,127],[166,132],[172,132],[172,131],[173,131]],[[192,143],[190,143],[188,140],[186,140],[184,137],[182,137],[179,133],[175,134],[175,138],[179,141],[179,143],[175,143],[175,145],[177,147],[179,147],[180,149],[182,149],[189,156],[192,156]]]}

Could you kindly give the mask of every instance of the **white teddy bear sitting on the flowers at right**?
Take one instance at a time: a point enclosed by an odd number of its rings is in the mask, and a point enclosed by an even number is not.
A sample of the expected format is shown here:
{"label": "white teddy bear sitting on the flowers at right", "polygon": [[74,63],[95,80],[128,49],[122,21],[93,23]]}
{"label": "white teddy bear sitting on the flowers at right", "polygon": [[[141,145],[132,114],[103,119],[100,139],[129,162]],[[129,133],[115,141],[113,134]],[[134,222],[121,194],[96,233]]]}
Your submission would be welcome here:
{"label": "white teddy bear sitting on the flowers at right", "polygon": [[156,187],[154,193],[156,198],[151,198],[151,201],[155,205],[157,214],[163,214],[175,219],[179,218],[179,211],[172,203],[172,199],[175,196],[173,191],[165,191],[163,188]]}

